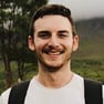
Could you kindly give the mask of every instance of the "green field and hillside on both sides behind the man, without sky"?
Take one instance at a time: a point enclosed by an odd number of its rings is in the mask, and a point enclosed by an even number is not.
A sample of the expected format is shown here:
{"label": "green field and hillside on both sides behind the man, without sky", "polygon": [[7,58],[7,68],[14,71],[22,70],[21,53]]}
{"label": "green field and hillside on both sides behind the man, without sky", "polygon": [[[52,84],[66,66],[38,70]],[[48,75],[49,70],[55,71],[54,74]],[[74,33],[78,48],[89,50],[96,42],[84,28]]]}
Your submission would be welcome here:
{"label": "green field and hillside on both sides behind the man, without sky", "polygon": [[[104,19],[76,22],[80,35],[80,48],[72,58],[72,70],[77,74],[104,83]],[[0,58],[1,59],[1,58]],[[18,83],[15,62],[11,62],[13,82]],[[37,74],[35,64],[24,64],[24,80]],[[0,60],[0,93],[4,91],[4,66]]]}

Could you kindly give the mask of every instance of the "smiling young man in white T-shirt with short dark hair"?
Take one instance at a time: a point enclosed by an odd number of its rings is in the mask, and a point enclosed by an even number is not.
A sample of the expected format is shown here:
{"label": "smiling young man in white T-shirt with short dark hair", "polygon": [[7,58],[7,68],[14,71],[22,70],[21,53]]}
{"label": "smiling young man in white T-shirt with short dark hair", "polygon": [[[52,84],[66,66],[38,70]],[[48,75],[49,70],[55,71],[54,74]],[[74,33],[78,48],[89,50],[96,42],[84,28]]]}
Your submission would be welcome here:
{"label": "smiling young man in white T-shirt with short dark hair", "polygon": [[89,96],[85,80],[71,71],[71,55],[79,48],[79,35],[70,9],[60,4],[44,6],[33,15],[30,29],[29,48],[37,53],[39,73],[22,95],[23,103],[17,103],[21,102],[18,97],[11,98],[12,89],[9,89],[2,93],[0,104],[13,104],[12,101],[17,104],[91,104],[95,100],[92,104],[104,104],[103,85],[98,85],[98,96],[94,90],[97,84],[91,82]]}

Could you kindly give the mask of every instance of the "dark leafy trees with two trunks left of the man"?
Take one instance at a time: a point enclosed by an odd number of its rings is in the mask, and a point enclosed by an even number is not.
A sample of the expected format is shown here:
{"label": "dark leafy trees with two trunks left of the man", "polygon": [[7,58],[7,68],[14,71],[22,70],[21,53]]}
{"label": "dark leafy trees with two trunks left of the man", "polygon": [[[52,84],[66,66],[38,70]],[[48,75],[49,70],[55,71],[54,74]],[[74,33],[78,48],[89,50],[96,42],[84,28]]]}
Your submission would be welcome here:
{"label": "dark leafy trees with two trunks left of the man", "polygon": [[46,2],[48,0],[0,1],[0,49],[2,50],[8,87],[12,84],[11,61],[17,62],[19,79],[23,80],[30,20],[33,12]]}

